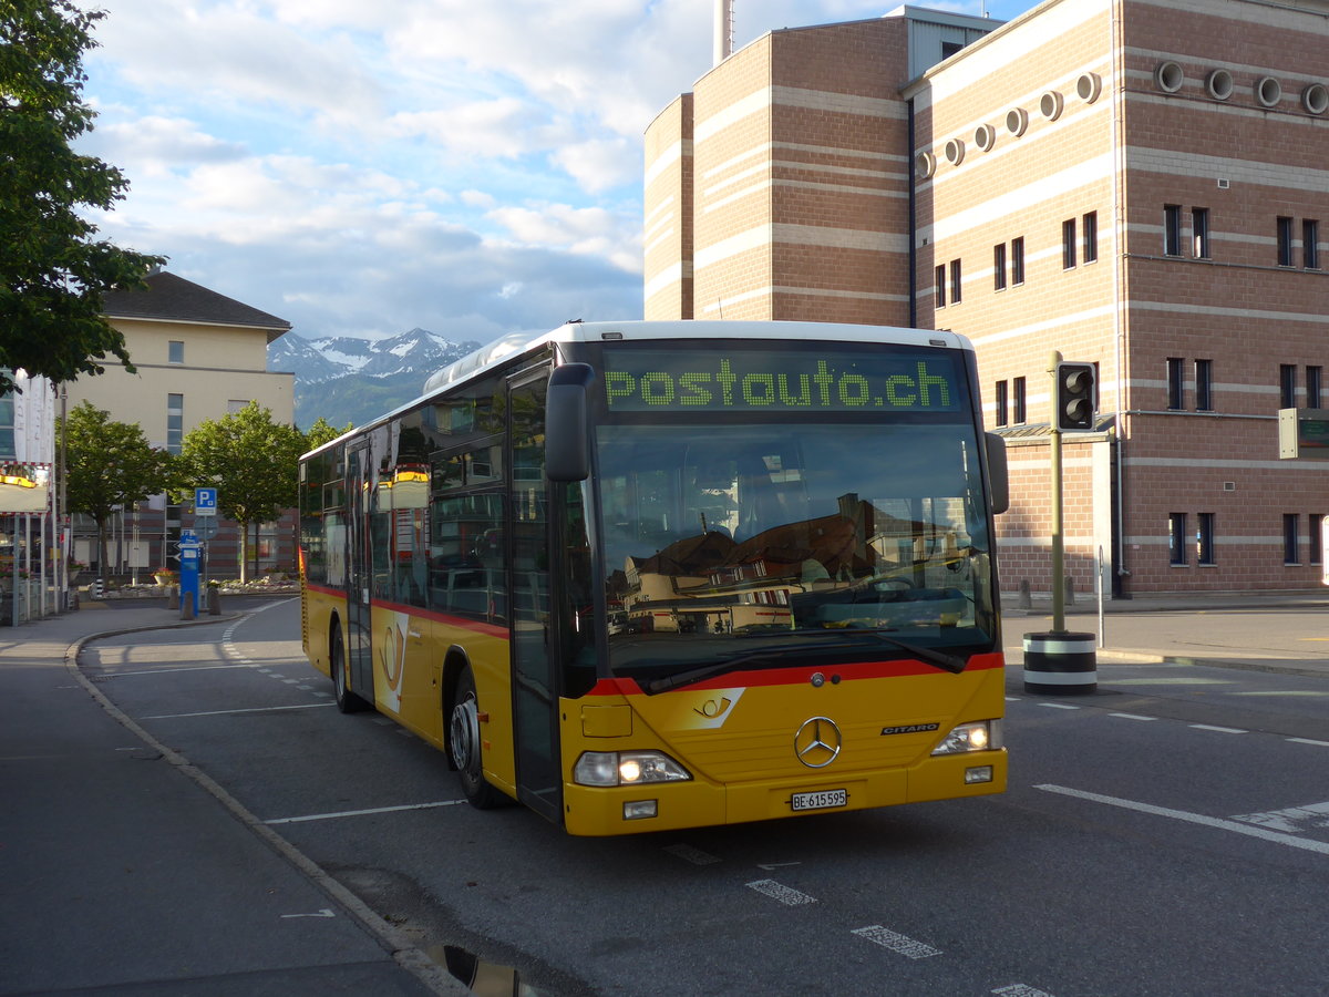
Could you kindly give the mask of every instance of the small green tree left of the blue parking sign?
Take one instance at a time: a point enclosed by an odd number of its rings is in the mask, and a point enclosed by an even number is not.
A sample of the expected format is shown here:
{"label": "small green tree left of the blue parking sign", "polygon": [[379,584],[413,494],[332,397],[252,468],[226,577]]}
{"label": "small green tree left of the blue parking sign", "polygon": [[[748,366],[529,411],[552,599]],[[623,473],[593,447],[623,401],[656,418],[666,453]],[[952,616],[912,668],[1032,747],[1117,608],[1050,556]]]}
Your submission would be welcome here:
{"label": "small green tree left of the blue parking sign", "polygon": [[110,412],[90,401],[60,421],[60,443],[65,449],[69,512],[90,516],[97,524],[97,565],[105,573],[112,514],[165,492],[173,459],[152,447],[140,427],[114,421]]}

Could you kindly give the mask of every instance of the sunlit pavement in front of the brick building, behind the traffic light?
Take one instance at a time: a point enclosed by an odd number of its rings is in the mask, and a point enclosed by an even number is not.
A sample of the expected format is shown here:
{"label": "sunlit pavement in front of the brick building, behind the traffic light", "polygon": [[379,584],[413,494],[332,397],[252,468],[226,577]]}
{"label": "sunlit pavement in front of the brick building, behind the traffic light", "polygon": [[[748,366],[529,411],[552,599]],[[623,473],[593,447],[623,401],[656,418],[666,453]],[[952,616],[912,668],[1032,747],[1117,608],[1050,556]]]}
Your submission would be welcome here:
{"label": "sunlit pavement in front of the brick building, behind the traffic light", "polygon": [[[1002,596],[1006,663],[1023,665],[1023,635],[1051,630],[1049,598],[1022,610]],[[1321,593],[1219,593],[1104,601],[1076,594],[1065,629],[1099,638],[1099,665],[1174,663],[1329,679],[1329,589]]]}

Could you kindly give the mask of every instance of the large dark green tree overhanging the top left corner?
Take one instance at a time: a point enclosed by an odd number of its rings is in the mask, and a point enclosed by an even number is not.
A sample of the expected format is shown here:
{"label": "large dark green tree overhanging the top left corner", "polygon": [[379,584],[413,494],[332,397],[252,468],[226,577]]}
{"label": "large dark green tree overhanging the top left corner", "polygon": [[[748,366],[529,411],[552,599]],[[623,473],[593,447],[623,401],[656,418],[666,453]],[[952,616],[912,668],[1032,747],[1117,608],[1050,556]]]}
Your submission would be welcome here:
{"label": "large dark green tree overhanging the top left corner", "polygon": [[114,356],[132,372],[102,296],[141,287],[163,262],[97,241],[80,214],[109,211],[129,187],[70,148],[96,117],[82,53],[104,16],[69,0],[0,0],[0,392],[13,387],[4,368],[66,382]]}

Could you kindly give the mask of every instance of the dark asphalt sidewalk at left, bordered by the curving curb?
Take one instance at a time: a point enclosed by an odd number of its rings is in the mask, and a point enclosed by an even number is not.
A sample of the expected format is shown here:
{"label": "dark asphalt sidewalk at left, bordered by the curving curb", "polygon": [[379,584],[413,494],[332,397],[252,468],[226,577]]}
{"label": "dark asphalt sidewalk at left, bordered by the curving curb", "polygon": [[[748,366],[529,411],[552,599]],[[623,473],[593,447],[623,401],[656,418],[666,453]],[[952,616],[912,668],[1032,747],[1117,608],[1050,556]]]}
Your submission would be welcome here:
{"label": "dark asphalt sidewalk at left, bordered by the curving curb", "polygon": [[0,993],[469,993],[74,665],[94,634],[235,618],[0,627]]}

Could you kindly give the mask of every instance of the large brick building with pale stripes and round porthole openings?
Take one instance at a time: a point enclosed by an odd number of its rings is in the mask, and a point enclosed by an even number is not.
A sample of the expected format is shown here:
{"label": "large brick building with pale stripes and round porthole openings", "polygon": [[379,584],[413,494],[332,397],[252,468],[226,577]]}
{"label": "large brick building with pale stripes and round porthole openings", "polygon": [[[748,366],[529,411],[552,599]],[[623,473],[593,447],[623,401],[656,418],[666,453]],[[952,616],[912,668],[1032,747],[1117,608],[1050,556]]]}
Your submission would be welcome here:
{"label": "large brick building with pale stripes and round porthole openings", "polygon": [[777,31],[646,133],[646,318],[942,327],[1007,439],[1002,584],[1049,586],[1051,352],[1099,372],[1066,436],[1066,565],[1111,590],[1312,589],[1329,464],[1329,0],[901,7]]}

